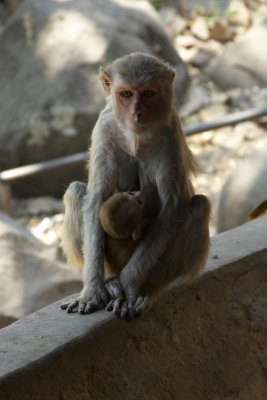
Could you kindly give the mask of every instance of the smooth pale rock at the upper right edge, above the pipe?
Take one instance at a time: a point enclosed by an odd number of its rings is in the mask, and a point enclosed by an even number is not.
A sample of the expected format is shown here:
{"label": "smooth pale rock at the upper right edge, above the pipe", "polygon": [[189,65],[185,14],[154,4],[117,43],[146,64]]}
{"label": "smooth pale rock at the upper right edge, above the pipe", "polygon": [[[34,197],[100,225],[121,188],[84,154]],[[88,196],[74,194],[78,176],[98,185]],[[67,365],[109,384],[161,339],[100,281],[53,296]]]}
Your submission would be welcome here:
{"label": "smooth pale rock at the upper right edge, above the pipe", "polygon": [[267,21],[251,28],[224,55],[216,57],[207,74],[221,89],[267,85]]}

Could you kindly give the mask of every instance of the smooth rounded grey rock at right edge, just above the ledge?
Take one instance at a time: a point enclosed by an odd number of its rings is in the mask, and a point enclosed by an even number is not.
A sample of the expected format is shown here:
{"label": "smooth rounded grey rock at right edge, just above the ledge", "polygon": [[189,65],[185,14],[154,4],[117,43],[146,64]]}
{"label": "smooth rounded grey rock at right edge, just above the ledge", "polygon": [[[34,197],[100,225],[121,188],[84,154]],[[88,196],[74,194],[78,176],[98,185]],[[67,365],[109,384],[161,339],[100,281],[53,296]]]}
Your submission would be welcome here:
{"label": "smooth rounded grey rock at right edge, just above the ledge", "polygon": [[267,153],[262,153],[241,161],[225,182],[215,215],[217,231],[243,224],[266,199]]}

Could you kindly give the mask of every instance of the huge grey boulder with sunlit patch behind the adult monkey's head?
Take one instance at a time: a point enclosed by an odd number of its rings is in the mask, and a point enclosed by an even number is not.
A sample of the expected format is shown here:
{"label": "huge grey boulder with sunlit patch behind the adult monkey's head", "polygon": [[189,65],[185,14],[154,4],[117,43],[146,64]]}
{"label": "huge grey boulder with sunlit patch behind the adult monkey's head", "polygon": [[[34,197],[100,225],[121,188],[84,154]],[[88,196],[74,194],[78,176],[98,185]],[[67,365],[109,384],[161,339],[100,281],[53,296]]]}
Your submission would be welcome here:
{"label": "huge grey boulder with sunlit patch behind the adult monkey's head", "polygon": [[[86,150],[105,102],[99,66],[133,51],[176,68],[180,101],[188,75],[148,2],[25,0],[0,36],[0,170]],[[15,188],[61,194],[78,172]]]}

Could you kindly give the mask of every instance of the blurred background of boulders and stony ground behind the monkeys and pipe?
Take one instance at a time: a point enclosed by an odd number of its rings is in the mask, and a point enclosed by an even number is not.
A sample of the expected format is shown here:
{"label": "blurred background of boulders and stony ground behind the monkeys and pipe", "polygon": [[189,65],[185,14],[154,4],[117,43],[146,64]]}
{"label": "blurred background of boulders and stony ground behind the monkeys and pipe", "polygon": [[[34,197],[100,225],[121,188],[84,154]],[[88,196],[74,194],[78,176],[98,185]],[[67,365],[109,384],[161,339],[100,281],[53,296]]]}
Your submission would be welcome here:
{"label": "blurred background of boulders and stony ground behind the monkeys and pipe", "polygon": [[[2,0],[0,171],[86,151],[105,101],[99,65],[131,51],[175,67],[184,127],[267,107],[264,0]],[[203,168],[197,191],[213,204],[212,234],[267,198],[266,123],[188,137]],[[0,326],[80,290],[80,271],[59,248],[61,196],[85,175],[76,165],[0,182]]]}

